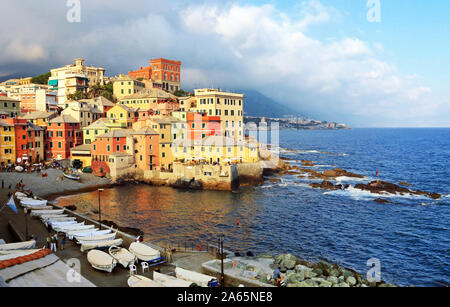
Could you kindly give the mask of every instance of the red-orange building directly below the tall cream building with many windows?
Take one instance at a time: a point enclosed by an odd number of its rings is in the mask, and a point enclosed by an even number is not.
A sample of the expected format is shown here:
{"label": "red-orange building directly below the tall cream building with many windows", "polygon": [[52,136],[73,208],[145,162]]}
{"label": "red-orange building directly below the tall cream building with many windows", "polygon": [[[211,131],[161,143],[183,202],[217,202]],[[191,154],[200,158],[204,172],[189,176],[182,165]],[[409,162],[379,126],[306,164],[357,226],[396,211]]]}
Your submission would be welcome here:
{"label": "red-orange building directly below the tall cream building with many windows", "polygon": [[205,113],[187,113],[188,140],[201,140],[211,135],[222,135],[220,116],[208,116]]}

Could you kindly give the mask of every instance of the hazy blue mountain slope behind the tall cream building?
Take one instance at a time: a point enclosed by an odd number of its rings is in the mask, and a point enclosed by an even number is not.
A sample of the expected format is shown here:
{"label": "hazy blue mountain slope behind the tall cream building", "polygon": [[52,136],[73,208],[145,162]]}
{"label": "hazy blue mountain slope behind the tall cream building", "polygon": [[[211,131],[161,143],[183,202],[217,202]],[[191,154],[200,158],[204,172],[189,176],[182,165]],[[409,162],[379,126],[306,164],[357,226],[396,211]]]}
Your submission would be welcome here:
{"label": "hazy blue mountain slope behind the tall cream building", "polygon": [[284,115],[299,115],[301,113],[255,90],[237,90],[236,92],[245,95],[244,114],[246,116],[281,118]]}

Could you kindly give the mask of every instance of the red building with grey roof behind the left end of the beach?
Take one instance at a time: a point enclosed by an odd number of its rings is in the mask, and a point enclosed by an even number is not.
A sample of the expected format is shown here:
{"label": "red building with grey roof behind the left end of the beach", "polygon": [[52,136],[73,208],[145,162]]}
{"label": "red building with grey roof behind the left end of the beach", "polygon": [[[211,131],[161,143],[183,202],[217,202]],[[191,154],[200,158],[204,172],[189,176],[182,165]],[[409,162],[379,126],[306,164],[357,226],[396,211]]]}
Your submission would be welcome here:
{"label": "red building with grey roof behind the left end of the beach", "polygon": [[83,144],[80,122],[70,115],[61,115],[47,125],[45,154],[48,159],[69,159],[70,149]]}

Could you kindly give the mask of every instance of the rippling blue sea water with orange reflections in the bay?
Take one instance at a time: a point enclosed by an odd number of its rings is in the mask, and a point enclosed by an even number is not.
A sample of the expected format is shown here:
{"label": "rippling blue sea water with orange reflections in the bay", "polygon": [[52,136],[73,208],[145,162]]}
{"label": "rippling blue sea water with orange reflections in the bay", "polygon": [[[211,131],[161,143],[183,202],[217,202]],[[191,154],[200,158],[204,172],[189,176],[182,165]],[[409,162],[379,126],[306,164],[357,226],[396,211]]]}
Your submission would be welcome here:
{"label": "rippling blue sea water with orange reflections in the bay", "polygon": [[[370,258],[381,261],[382,279],[403,286],[450,284],[450,129],[353,129],[280,131],[281,156],[314,169],[343,168],[411,189],[437,192],[440,200],[383,197],[351,187],[327,192],[296,175],[238,193],[182,191],[126,185],[102,194],[102,217],[143,230],[148,241],[215,243],[226,235],[233,251],[290,252],[326,258],[365,274]],[[283,149],[295,149],[286,151]],[[66,196],[91,217],[97,192]],[[237,220],[239,219],[239,226]]]}

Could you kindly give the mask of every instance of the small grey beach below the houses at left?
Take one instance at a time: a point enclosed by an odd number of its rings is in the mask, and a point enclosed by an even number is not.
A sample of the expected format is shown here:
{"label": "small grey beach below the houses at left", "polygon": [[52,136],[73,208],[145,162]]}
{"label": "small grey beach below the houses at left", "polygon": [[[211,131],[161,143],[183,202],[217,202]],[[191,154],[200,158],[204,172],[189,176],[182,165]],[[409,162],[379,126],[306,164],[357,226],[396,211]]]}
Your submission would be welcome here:
{"label": "small grey beach below the houses at left", "polygon": [[[58,169],[46,170],[48,176],[41,177],[38,173],[0,173],[0,181],[4,181],[5,190],[11,185],[14,191],[16,184],[22,180],[25,190],[31,190],[34,195],[49,197],[57,194],[73,193],[78,191],[88,191],[98,187],[111,185],[111,180],[96,177],[92,174],[81,174],[81,180],[75,181],[62,177],[63,172]],[[61,180],[61,178],[63,178]]]}

